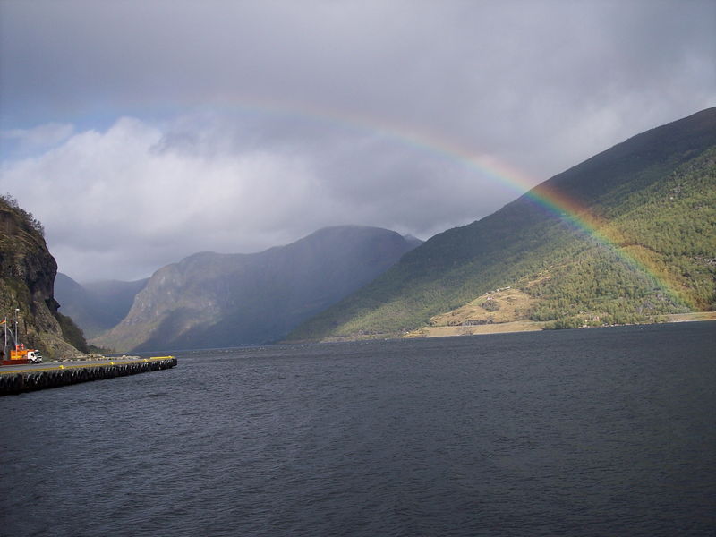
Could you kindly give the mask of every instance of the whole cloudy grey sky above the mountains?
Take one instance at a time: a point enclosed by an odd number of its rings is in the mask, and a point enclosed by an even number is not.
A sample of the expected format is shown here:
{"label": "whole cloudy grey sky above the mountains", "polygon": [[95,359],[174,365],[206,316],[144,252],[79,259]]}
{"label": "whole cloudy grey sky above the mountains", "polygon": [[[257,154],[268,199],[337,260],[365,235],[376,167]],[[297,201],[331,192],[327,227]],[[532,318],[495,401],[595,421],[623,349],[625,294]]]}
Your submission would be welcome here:
{"label": "whole cloudy grey sky above the mountains", "polygon": [[0,193],[81,283],[428,239],[713,106],[712,0],[0,0]]}

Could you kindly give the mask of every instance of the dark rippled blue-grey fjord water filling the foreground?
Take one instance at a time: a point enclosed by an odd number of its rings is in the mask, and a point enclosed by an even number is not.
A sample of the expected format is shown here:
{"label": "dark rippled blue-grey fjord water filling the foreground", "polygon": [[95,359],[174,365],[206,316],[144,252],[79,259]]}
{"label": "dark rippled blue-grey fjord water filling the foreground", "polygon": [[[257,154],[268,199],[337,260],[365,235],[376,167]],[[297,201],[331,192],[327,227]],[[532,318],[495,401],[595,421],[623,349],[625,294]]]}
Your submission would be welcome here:
{"label": "dark rippled blue-grey fjord water filling the foreground", "polygon": [[712,535],[716,323],[178,353],[0,400],[3,535]]}

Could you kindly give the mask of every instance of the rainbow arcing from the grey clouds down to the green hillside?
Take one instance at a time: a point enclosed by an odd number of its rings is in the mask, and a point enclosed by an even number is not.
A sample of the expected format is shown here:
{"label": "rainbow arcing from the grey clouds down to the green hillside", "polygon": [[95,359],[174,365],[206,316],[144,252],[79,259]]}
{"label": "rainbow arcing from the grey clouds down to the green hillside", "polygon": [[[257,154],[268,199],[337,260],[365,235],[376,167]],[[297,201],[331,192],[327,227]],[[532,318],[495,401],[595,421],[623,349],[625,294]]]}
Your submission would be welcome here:
{"label": "rainbow arcing from the grey clouds down to the green hillside", "polygon": [[377,116],[355,114],[345,110],[337,112],[327,107],[316,107],[308,103],[286,104],[285,101],[268,98],[229,99],[219,103],[219,109],[239,109],[243,112],[274,115],[279,117],[295,117],[312,123],[342,127],[347,130],[369,132],[371,135],[396,141],[401,145],[446,158],[462,166],[467,166],[491,181],[499,183],[507,189],[523,195],[537,205],[565,222],[568,226],[592,238],[609,251],[612,251],[626,267],[642,272],[649,277],[654,286],[667,295],[672,303],[685,305],[684,296],[675,286],[669,285],[662,270],[646,258],[637,258],[620,246],[621,238],[616,231],[609,231],[609,226],[592,211],[562,192],[546,187],[533,177],[524,174],[514,166],[510,166],[490,155],[477,153],[464,145],[438,138],[434,134],[421,131],[414,127],[388,123]]}

